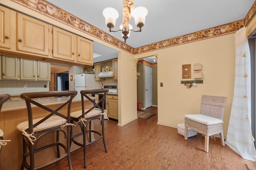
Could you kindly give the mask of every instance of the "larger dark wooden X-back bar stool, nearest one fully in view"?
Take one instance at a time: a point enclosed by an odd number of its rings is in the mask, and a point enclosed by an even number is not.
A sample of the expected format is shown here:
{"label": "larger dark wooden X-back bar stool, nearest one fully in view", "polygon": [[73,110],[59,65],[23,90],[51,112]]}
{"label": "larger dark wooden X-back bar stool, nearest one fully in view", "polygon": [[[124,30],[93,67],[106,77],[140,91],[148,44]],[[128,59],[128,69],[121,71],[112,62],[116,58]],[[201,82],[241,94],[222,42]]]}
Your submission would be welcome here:
{"label": "larger dark wooden X-back bar stool, nearest one fully in view", "polygon": [[[18,130],[22,132],[22,139],[23,139],[23,158],[22,158],[22,166],[21,170],[24,169],[40,169],[57,162],[58,160],[68,156],[68,164],[69,169],[72,170],[72,164],[70,160],[70,107],[71,102],[74,96],[76,96],[76,91],[54,91],[54,92],[32,92],[32,93],[23,93],[20,95],[22,99],[25,100],[27,111],[28,111],[28,121],[24,121],[17,125]],[[35,98],[52,98],[52,97],[69,97],[67,100],[64,100],[62,105],[55,110],[50,109],[50,107],[44,106],[40,104],[40,100],[35,100]],[[41,117],[38,119],[33,119],[37,113],[32,113],[32,106],[34,104],[46,111],[48,111],[48,115],[46,117]],[[67,106],[68,108],[64,107]],[[33,106],[34,107],[34,106]],[[67,126],[67,131],[63,128]],[[61,143],[59,141],[59,133],[63,132],[65,138],[67,139],[67,146],[65,143]],[[44,137],[44,135],[49,133],[56,132],[56,141],[54,143],[42,145],[40,143],[40,147],[38,147],[38,141]],[[46,140],[48,136],[44,137],[43,139]],[[44,144],[44,143],[43,143]],[[42,165],[38,165],[35,167],[35,158],[34,154],[36,152],[44,154],[44,149],[49,147],[56,147],[56,159],[52,160],[51,162],[46,162]],[[60,147],[62,147],[66,153],[60,155]],[[27,149],[28,148],[28,149]],[[27,153],[28,150],[28,153]],[[38,154],[39,154],[38,153]],[[29,157],[29,160],[27,159]]]}

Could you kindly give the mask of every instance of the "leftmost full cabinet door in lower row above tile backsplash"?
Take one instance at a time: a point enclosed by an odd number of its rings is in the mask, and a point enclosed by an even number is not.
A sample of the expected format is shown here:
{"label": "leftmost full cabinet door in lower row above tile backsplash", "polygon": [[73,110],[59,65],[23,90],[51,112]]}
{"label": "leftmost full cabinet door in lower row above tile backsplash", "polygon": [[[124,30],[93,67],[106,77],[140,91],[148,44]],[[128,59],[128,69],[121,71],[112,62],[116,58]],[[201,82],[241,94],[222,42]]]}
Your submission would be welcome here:
{"label": "leftmost full cabinet door in lower row above tile backsplash", "polygon": [[2,79],[18,80],[19,61],[16,57],[2,56]]}

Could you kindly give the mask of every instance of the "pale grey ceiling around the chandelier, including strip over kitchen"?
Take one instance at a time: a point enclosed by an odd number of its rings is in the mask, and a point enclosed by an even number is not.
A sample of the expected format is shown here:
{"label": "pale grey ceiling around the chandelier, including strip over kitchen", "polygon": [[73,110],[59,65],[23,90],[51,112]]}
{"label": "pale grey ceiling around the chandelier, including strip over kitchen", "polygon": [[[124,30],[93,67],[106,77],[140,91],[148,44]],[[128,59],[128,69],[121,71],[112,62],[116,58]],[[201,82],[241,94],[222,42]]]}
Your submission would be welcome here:
{"label": "pale grey ceiling around the chandelier, including strip over kitchen", "polygon": [[[126,44],[141,47],[158,41],[186,35],[244,19],[255,0],[134,0],[134,7],[148,9],[141,32],[131,32]],[[122,0],[48,0],[74,16],[94,25],[123,41],[121,32],[109,32],[102,15],[104,8],[115,8],[119,13],[113,30],[122,23]],[[136,29],[134,18],[130,24]],[[116,50],[94,42],[94,53],[101,55],[94,63],[117,58]],[[115,55],[113,57],[113,55]]]}

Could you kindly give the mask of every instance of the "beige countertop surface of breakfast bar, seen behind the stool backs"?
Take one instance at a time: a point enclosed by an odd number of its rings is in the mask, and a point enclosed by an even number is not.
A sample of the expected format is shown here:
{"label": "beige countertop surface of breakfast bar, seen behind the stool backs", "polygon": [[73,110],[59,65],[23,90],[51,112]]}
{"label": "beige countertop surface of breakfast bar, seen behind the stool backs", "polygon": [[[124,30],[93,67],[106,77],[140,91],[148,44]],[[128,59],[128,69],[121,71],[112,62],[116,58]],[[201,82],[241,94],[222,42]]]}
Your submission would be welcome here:
{"label": "beige countertop surface of breakfast bar, seen behind the stool backs", "polygon": [[[91,97],[94,99],[94,97]],[[56,104],[62,104],[66,102],[69,99],[69,97],[62,97],[62,98],[46,98],[46,99],[36,99],[36,101],[39,101],[38,103],[43,104],[44,106],[51,106]],[[95,98],[96,99],[96,98]],[[85,99],[87,100],[87,99]],[[73,99],[72,102],[81,102],[80,99]],[[37,107],[34,104],[31,104],[31,107]],[[72,107],[72,106],[71,106]],[[26,109],[26,102],[24,100],[22,101],[13,101],[13,102],[5,102],[2,106],[1,112],[4,111],[16,111],[21,109]]]}

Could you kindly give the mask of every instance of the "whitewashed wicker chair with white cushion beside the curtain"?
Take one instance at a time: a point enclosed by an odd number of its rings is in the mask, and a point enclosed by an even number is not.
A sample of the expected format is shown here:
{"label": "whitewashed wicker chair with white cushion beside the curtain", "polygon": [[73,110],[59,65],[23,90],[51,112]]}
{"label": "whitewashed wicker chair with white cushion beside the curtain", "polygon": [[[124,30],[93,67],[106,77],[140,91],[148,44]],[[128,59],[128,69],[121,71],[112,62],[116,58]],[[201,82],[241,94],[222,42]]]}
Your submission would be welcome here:
{"label": "whitewashed wicker chair with white cushion beside the curtain", "polygon": [[220,142],[225,146],[223,137],[223,115],[228,98],[218,96],[202,96],[201,114],[185,116],[185,139],[187,140],[188,128],[205,136],[204,150],[209,151],[209,137],[220,134]]}

